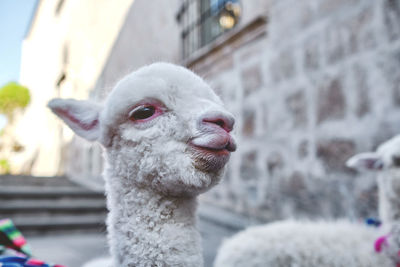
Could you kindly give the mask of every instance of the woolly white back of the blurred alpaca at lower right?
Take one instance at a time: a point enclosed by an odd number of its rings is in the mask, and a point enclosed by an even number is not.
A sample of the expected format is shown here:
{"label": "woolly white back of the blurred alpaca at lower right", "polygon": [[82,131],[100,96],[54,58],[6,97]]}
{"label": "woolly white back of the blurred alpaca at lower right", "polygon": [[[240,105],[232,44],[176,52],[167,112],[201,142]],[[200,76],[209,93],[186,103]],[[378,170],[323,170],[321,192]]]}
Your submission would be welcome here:
{"label": "woolly white back of the blurred alpaca at lower right", "polygon": [[251,227],[223,243],[215,267],[393,267],[389,257],[374,251],[379,234],[346,221]]}

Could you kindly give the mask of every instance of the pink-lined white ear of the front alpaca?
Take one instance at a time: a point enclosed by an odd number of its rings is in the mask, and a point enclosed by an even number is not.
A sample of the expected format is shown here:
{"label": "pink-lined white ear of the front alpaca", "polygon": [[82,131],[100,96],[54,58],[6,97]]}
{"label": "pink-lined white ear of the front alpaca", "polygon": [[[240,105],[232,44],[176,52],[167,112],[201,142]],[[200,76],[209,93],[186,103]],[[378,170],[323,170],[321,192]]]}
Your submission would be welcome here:
{"label": "pink-lined white ear of the front alpaca", "polygon": [[100,137],[101,106],[90,101],[53,99],[47,106],[77,135],[95,141]]}

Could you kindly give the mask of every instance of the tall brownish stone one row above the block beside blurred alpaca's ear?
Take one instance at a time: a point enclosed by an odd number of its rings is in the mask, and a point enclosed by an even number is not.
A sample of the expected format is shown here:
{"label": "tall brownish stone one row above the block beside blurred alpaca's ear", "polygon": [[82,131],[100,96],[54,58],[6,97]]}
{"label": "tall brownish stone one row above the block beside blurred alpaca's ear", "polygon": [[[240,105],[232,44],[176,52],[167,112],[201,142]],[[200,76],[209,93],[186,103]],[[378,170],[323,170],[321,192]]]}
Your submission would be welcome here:
{"label": "tall brownish stone one row above the block beside blurred alpaca's ear", "polygon": [[344,118],[346,100],[342,92],[342,80],[340,77],[331,79],[327,85],[322,85],[318,88],[317,101],[318,123]]}

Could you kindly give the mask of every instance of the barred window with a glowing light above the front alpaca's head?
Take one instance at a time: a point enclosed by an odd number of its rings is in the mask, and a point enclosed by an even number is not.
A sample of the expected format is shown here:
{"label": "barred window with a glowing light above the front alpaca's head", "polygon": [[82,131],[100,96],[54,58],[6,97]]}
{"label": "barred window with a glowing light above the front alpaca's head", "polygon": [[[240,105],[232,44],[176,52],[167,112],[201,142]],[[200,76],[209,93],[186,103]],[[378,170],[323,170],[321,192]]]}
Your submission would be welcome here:
{"label": "barred window with a glowing light above the front alpaca's head", "polygon": [[240,11],[238,0],[184,0],[177,15],[182,25],[183,58],[233,28]]}

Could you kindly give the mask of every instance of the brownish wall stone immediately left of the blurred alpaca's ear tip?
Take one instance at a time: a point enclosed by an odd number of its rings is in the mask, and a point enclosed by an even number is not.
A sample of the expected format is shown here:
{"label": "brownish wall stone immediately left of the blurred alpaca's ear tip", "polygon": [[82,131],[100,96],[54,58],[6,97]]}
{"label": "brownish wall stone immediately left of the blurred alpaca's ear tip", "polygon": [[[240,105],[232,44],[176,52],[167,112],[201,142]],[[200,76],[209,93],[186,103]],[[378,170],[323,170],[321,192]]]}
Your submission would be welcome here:
{"label": "brownish wall stone immediately left of the blurred alpaca's ear tip", "polygon": [[322,160],[328,172],[348,171],[345,163],[356,153],[352,140],[333,139],[317,142],[317,157]]}

